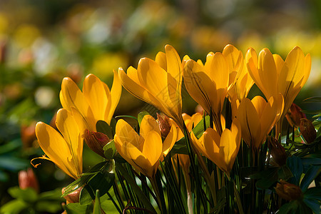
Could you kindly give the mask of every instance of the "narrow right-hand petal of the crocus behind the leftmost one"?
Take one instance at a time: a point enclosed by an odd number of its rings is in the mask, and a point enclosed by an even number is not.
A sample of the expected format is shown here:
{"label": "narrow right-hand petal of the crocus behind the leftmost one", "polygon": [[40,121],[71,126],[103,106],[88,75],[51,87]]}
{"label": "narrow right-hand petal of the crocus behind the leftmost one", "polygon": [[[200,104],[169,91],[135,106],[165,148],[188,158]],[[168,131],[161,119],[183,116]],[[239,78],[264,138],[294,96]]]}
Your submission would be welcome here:
{"label": "narrow right-hand petal of the crocus behind the leftmost one", "polygon": [[[108,86],[105,86],[105,88]],[[116,107],[121,99],[121,81],[118,78],[118,74],[113,70],[113,86],[111,87],[111,98],[108,99],[108,105],[105,113],[105,121],[110,125],[111,118],[113,118],[113,113],[116,110]]]}

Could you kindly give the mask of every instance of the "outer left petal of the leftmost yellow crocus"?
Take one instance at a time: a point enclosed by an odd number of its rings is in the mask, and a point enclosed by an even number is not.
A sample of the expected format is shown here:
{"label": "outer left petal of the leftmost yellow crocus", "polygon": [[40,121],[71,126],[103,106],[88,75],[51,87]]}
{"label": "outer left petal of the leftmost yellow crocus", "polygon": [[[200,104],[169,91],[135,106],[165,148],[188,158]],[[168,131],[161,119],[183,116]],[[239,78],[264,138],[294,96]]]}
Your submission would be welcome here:
{"label": "outer left petal of the leftmost yellow crocus", "polygon": [[54,162],[64,173],[77,179],[78,173],[76,168],[73,168],[71,153],[61,134],[46,123],[39,122],[36,125],[36,137],[39,146],[50,161]]}

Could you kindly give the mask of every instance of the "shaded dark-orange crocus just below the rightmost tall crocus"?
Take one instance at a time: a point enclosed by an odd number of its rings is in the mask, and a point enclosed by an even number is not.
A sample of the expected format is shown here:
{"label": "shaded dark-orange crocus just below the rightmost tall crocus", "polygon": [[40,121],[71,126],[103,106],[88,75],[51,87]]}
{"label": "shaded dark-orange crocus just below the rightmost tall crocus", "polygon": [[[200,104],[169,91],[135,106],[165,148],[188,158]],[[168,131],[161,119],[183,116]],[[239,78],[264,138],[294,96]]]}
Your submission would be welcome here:
{"label": "shaded dark-orange crocus just below the rightmost tall crocus", "polygon": [[[282,96],[278,99],[282,100]],[[262,96],[255,96],[252,100],[244,98],[238,106],[236,117],[242,127],[242,138],[253,149],[260,148],[277,121],[282,102],[275,100],[270,97],[266,102]]]}

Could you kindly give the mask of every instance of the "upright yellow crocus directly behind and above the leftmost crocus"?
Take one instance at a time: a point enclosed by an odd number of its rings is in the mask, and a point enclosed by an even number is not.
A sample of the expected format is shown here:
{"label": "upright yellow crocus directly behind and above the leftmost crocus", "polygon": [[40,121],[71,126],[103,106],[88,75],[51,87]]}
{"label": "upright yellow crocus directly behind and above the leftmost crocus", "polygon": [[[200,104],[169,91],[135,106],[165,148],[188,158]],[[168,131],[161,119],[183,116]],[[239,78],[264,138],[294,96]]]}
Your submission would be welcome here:
{"label": "upright yellow crocus directly behind and above the leftmost crocus", "polygon": [[60,101],[63,108],[71,111],[81,126],[81,133],[88,129],[96,131],[97,121],[111,123],[111,118],[121,98],[121,82],[116,71],[113,71],[111,91],[93,74],[88,74],[83,81],[83,92],[71,78],[63,78]]}

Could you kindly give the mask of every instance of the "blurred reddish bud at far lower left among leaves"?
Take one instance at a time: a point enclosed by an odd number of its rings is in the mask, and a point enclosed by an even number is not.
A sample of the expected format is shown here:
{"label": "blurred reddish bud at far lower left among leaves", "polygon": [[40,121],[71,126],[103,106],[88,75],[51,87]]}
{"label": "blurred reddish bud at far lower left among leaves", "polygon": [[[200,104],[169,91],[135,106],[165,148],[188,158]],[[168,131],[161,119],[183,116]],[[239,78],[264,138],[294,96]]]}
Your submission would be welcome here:
{"label": "blurred reddish bud at far lower left among leaves", "polygon": [[33,188],[37,193],[39,193],[38,180],[31,168],[28,168],[27,170],[21,170],[18,174],[18,180],[19,188],[21,188],[22,190],[26,188]]}

